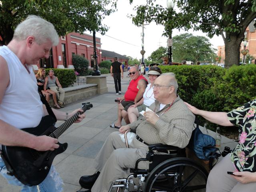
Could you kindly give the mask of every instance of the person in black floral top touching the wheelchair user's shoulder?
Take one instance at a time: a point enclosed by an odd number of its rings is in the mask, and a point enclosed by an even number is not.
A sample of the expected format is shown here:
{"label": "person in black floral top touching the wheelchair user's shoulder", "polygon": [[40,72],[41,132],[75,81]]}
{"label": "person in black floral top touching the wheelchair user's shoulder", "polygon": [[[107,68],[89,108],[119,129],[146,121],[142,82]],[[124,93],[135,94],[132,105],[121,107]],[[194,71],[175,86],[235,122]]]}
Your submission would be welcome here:
{"label": "person in black floral top touching the wheelchair user's shoulder", "polygon": [[[239,142],[230,155],[225,156],[211,170],[206,192],[252,192],[256,190],[256,100],[231,112],[199,110],[186,103],[194,113],[222,126],[238,126]],[[227,174],[234,172],[233,175]]]}

